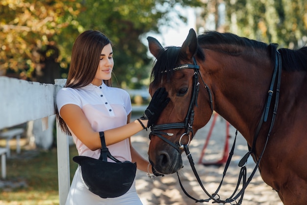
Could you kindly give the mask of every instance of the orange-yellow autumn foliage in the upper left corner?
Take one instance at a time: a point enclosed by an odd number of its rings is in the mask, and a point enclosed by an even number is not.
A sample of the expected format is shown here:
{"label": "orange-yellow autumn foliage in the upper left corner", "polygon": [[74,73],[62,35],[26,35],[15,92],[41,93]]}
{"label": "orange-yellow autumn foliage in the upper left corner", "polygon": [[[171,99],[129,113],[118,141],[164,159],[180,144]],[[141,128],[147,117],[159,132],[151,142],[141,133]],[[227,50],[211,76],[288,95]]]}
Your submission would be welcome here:
{"label": "orange-yellow autumn foliage in the upper left corner", "polygon": [[31,79],[35,68],[55,52],[50,49],[57,47],[54,36],[73,26],[70,20],[79,5],[73,0],[1,0],[0,73]]}

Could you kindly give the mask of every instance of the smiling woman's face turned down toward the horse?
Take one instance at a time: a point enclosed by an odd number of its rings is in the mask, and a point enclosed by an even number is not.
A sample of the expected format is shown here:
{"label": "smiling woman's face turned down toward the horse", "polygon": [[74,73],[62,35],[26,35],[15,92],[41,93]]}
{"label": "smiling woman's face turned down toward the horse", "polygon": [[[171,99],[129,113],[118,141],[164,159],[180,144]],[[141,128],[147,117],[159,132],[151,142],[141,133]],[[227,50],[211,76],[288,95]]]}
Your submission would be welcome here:
{"label": "smiling woman's face turned down toward the horse", "polygon": [[112,46],[111,44],[107,44],[102,49],[99,65],[92,84],[95,86],[100,86],[102,84],[102,80],[109,80],[111,78],[113,66],[114,61]]}

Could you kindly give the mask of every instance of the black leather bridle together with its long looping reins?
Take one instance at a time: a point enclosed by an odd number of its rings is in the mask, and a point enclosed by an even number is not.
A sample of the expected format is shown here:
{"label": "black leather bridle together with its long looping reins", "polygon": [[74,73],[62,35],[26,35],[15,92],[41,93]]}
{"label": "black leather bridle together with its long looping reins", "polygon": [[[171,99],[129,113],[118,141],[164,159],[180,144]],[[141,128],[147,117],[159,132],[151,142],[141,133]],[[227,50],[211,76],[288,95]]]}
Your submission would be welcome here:
{"label": "black leather bridle together with its long looping reins", "polygon": [[[179,70],[179,69],[192,68],[195,71],[194,75],[193,75],[192,97],[191,97],[191,101],[190,101],[190,105],[189,105],[189,109],[188,109],[188,113],[187,113],[187,116],[185,118],[185,121],[181,122],[181,123],[179,122],[179,123],[168,123],[168,124],[153,125],[151,127],[152,132],[150,133],[150,138],[151,138],[151,135],[156,135],[157,137],[159,137],[162,140],[164,140],[166,143],[168,143],[171,146],[173,146],[176,150],[179,151],[179,153],[181,153],[182,149],[184,149],[184,151],[185,151],[185,153],[187,155],[187,158],[189,160],[189,163],[191,165],[191,168],[193,170],[193,173],[194,173],[197,181],[199,182],[200,186],[204,190],[205,194],[209,197],[209,199],[198,200],[198,199],[195,199],[192,196],[190,196],[185,191],[185,189],[184,189],[184,187],[183,187],[183,185],[182,185],[182,183],[180,181],[179,174],[177,172],[177,176],[178,176],[178,179],[179,179],[180,187],[181,187],[182,191],[184,192],[184,194],[186,196],[188,196],[190,199],[194,200],[195,202],[201,202],[201,203],[202,202],[209,202],[210,200],[213,200],[212,203],[222,203],[222,204],[230,203],[230,204],[232,204],[233,202],[235,202],[236,205],[241,205],[245,189],[247,188],[247,186],[249,185],[249,183],[251,182],[253,176],[256,173],[256,170],[257,170],[257,168],[259,166],[260,160],[261,160],[261,158],[263,156],[263,153],[265,151],[265,148],[266,148],[268,140],[269,140],[269,136],[271,134],[271,131],[272,131],[274,123],[275,123],[275,118],[276,118],[277,109],[278,109],[278,103],[279,103],[280,85],[281,85],[281,54],[279,53],[278,50],[276,51],[275,67],[274,67],[274,72],[273,72],[273,76],[272,76],[272,80],[271,80],[270,89],[268,91],[266,106],[265,106],[265,109],[264,109],[264,111],[262,113],[260,121],[258,123],[257,129],[256,129],[256,133],[254,135],[253,146],[249,147],[249,151],[240,160],[238,166],[241,167],[241,170],[240,170],[240,174],[238,176],[238,182],[237,182],[236,188],[233,191],[232,195],[229,198],[227,198],[226,200],[221,200],[220,196],[218,195],[218,192],[219,192],[219,190],[220,190],[220,188],[222,186],[224,177],[226,176],[226,172],[227,172],[228,167],[230,165],[230,161],[231,161],[231,158],[232,158],[232,155],[233,155],[233,151],[234,151],[234,147],[235,147],[237,131],[235,133],[235,138],[234,138],[233,145],[231,147],[229,158],[228,158],[228,160],[226,162],[226,165],[225,165],[225,168],[224,168],[222,180],[221,180],[217,190],[211,195],[205,189],[205,187],[204,187],[204,185],[203,185],[203,183],[202,183],[202,181],[201,181],[201,179],[200,179],[200,177],[199,177],[199,175],[198,175],[198,173],[197,173],[197,171],[195,169],[193,158],[192,158],[192,155],[191,155],[191,153],[189,151],[189,148],[188,148],[188,145],[189,145],[189,143],[191,141],[191,137],[189,135],[190,132],[192,133],[192,138],[193,138],[192,125],[193,125],[193,121],[194,121],[194,106],[198,106],[197,105],[197,97],[198,97],[198,92],[199,92],[199,82],[198,82],[198,75],[200,74],[199,73],[199,66],[197,65],[196,60],[195,60],[194,57],[193,57],[193,62],[194,62],[194,64],[184,64],[184,65],[180,65],[180,66],[178,66],[178,67],[173,69],[174,71],[176,71],[176,70]],[[167,70],[164,71],[164,72],[167,72]],[[262,152],[261,152],[261,154],[259,156],[259,159],[256,162],[256,166],[255,166],[253,172],[251,173],[250,177],[247,179],[247,169],[246,169],[247,160],[248,160],[248,158],[249,158],[249,156],[251,154],[255,154],[256,140],[257,140],[260,128],[262,126],[262,123],[267,121],[268,113],[269,113],[269,108],[271,106],[271,99],[272,99],[272,95],[273,95],[273,88],[274,88],[274,85],[275,85],[276,76],[277,76],[277,86],[276,86],[275,105],[274,105],[274,110],[273,110],[273,114],[272,114],[271,125],[270,125],[270,128],[269,128],[268,134],[267,134],[267,138],[266,138],[266,142],[265,142],[265,145],[263,147],[263,150],[262,150]],[[203,79],[202,79],[202,81],[203,81]],[[204,83],[205,88],[206,88],[206,90],[208,92],[208,96],[209,96],[209,100],[210,100],[210,106],[211,106],[211,111],[213,112],[212,96],[211,96],[210,89],[208,88],[208,86],[205,84],[204,81],[203,81],[203,83]],[[175,145],[174,143],[170,142],[168,139],[166,139],[165,137],[162,136],[162,135],[172,136],[173,135],[172,133],[165,133],[165,132],[159,131],[159,130],[164,130],[164,129],[177,129],[177,128],[185,128],[185,133],[182,134],[180,139],[179,139],[179,146]],[[181,144],[181,139],[182,139],[182,137],[184,135],[187,135],[188,138],[189,138],[188,139],[188,143],[186,145]],[[242,179],[243,179],[243,181],[242,181]],[[236,194],[236,192],[238,191],[238,187],[239,187],[241,181],[242,181],[242,189]],[[218,198],[215,198],[216,196]],[[238,199],[239,197],[240,197],[239,201],[236,202],[236,199]]]}

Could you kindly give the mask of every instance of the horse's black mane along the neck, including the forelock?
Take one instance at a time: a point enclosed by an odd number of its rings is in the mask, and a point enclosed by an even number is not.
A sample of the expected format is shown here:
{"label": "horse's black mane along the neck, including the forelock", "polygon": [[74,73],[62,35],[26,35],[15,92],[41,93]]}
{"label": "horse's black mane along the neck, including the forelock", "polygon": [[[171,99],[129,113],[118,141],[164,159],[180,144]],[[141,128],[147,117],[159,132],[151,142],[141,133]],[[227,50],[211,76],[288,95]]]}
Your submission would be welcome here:
{"label": "horse's black mane along the neck, including the forelock", "polygon": [[[220,33],[217,31],[205,31],[197,36],[198,49],[196,57],[201,60],[205,60],[205,53],[203,48],[215,50],[231,56],[238,56],[246,49],[263,50],[270,54],[272,64],[275,62],[277,44],[266,44],[260,41],[252,40],[246,37],[239,37],[233,33]],[[180,56],[180,47],[166,47],[158,55],[153,66],[151,79],[153,85],[157,85],[162,81],[163,71],[169,70],[178,66],[176,63],[179,59],[184,59],[184,56]],[[281,48],[278,50],[281,53],[282,69],[286,71],[307,71],[307,47],[302,47],[298,50],[290,50]],[[167,72],[167,78],[172,76],[172,70]]]}

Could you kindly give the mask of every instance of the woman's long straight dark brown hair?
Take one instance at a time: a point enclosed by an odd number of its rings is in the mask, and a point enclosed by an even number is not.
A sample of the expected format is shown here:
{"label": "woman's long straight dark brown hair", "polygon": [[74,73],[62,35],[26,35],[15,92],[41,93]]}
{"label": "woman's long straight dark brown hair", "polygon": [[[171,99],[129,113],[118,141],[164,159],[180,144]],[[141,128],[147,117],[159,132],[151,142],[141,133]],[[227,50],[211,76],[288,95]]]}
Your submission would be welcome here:
{"label": "woman's long straight dark brown hair", "polygon": [[[89,85],[95,78],[101,51],[112,42],[100,31],[87,30],[81,33],[73,46],[72,59],[68,71],[66,88],[81,88]],[[110,80],[103,80],[106,86],[111,86]],[[56,109],[56,117],[63,132],[71,135],[66,123]]]}

